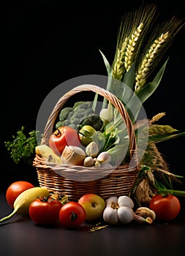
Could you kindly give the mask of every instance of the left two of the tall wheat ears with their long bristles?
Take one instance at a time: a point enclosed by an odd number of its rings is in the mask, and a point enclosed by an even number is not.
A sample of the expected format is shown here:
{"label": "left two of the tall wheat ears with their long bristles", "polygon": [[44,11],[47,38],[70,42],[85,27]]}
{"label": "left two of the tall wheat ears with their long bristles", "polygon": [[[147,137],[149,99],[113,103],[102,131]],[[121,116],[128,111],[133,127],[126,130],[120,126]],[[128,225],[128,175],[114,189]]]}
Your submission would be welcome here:
{"label": "left two of the tall wheat ears with their long bristles", "polygon": [[156,5],[149,4],[124,15],[118,32],[116,53],[112,64],[113,78],[121,80],[124,73],[129,71],[137,58],[145,32],[153,21],[155,12]]}

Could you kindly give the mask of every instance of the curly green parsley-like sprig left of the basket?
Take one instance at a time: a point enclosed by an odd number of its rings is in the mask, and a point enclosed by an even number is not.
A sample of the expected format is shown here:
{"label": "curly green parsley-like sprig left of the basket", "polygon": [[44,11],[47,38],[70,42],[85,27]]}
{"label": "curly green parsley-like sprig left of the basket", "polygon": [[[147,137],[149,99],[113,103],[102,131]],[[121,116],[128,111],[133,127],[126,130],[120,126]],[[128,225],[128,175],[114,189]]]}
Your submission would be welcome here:
{"label": "curly green parsley-like sprig left of the basket", "polygon": [[39,144],[42,134],[39,131],[32,131],[26,136],[24,127],[18,130],[17,135],[12,135],[12,141],[5,141],[4,145],[10,152],[10,157],[18,164],[21,160],[32,163],[35,147]]}

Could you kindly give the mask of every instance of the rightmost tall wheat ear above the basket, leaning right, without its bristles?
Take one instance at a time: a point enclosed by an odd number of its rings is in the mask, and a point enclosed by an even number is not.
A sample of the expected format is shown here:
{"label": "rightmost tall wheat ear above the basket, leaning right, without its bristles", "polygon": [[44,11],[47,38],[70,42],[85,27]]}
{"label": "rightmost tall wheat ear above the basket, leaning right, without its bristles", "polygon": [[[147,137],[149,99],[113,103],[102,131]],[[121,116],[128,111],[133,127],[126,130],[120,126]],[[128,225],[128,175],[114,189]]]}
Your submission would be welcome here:
{"label": "rightmost tall wheat ear above the basket, leaning right, without its bristles", "polygon": [[137,70],[137,75],[135,78],[135,92],[140,91],[140,89],[142,89],[143,85],[146,83],[146,78],[150,71],[150,67],[154,63],[156,57],[159,55],[159,52],[162,46],[165,44],[168,36],[168,31],[165,34],[161,34],[161,36],[151,45],[148,52],[146,53],[146,56],[144,56],[143,61]]}

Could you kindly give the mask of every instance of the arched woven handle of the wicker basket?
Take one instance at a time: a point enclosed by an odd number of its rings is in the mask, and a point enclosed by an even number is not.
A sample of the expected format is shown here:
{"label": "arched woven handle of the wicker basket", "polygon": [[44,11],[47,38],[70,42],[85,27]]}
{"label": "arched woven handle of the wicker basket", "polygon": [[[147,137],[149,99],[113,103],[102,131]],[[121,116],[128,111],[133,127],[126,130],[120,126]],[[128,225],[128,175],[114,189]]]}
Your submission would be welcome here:
{"label": "arched woven handle of the wicker basket", "polygon": [[52,113],[50,114],[50,117],[48,118],[48,122],[45,126],[45,130],[43,133],[41,144],[48,144],[48,138],[53,133],[53,126],[55,124],[56,118],[58,116],[58,113],[61,111],[61,108],[63,107],[64,103],[67,102],[67,100],[72,97],[75,94],[78,94],[82,91],[93,91],[94,93],[97,93],[101,95],[102,97],[105,97],[109,102],[113,104],[115,108],[118,109],[119,113],[121,114],[122,118],[124,119],[124,122],[127,126],[128,135],[129,135],[129,150],[130,150],[130,157],[135,165],[135,162],[137,162],[137,143],[135,138],[135,132],[132,126],[132,121],[129,118],[129,115],[127,113],[127,110],[124,108],[123,103],[114,95],[111,94],[109,91],[106,91],[105,89],[102,89],[99,86],[94,85],[81,85],[77,86],[74,89],[68,91],[66,94],[64,94],[61,99],[58,100],[56,103],[55,108],[53,108]]}

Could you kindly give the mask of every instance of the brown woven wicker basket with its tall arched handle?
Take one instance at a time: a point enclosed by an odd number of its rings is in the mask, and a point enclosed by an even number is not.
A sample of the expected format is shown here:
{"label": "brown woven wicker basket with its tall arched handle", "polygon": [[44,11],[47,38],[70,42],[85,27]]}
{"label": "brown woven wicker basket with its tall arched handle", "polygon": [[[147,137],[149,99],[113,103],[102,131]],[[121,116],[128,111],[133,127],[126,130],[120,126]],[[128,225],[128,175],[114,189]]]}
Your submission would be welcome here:
{"label": "brown woven wicker basket with its tall arched handle", "polygon": [[[40,187],[47,187],[50,192],[56,192],[58,195],[66,195],[69,200],[78,200],[80,196],[87,193],[95,193],[104,199],[112,195],[129,195],[129,192],[137,178],[139,164],[137,162],[137,143],[135,132],[132,127],[132,121],[129,118],[127,110],[121,101],[109,91],[99,86],[82,85],[68,91],[58,100],[53,112],[48,118],[41,144],[48,145],[48,138],[53,133],[53,127],[58,117],[58,113],[64,106],[64,103],[75,94],[82,91],[92,91],[105,97],[111,102],[121,114],[127,125],[129,135],[130,162],[125,165],[119,165],[115,170],[98,167],[83,167],[77,165],[58,165],[53,162],[45,162],[44,159],[36,155],[33,165],[37,169],[37,177]],[[91,180],[91,175],[96,173],[96,179]],[[102,172],[104,173],[102,176]],[[98,178],[99,176],[99,178]],[[77,177],[74,179],[74,177]],[[78,177],[81,177],[80,180]],[[83,177],[86,177],[83,180]],[[89,177],[89,179],[87,178]]]}

